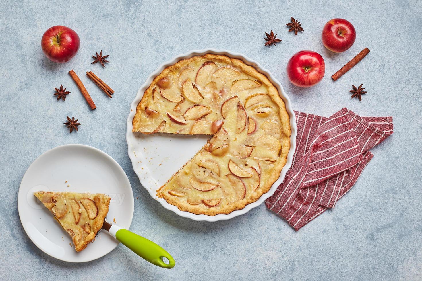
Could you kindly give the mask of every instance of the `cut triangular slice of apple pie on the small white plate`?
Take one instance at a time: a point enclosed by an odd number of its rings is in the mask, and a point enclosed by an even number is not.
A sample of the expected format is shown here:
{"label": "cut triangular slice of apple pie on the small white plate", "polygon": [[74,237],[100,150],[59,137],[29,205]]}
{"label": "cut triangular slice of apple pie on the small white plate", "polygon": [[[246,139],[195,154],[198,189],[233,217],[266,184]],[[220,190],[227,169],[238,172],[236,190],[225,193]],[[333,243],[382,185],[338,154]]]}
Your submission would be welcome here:
{"label": "cut triangular slice of apple pie on the small white plate", "polygon": [[34,195],[72,237],[76,252],[94,240],[103,226],[111,199],[102,193],[38,191]]}

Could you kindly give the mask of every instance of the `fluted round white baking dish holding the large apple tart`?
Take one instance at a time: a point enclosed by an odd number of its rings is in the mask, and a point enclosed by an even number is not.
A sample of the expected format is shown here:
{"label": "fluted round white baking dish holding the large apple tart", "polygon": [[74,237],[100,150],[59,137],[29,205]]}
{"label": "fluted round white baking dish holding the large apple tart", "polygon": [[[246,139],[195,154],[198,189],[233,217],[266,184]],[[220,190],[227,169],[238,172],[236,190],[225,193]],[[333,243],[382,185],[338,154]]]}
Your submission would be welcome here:
{"label": "fluted round white baking dish holding the large apple tart", "polygon": [[[141,101],[144,91],[149,87],[152,80],[157,75],[159,75],[162,70],[165,69],[165,67],[175,64],[181,59],[189,59],[192,56],[202,56],[208,53],[241,59],[246,64],[252,65],[259,72],[267,76],[271,83],[276,86],[280,93],[281,99],[283,99],[284,103],[286,104],[287,112],[290,115],[290,127],[292,128],[287,163],[283,170],[281,170],[279,179],[274,182],[271,189],[267,193],[263,194],[257,201],[246,205],[245,208],[241,210],[235,210],[230,214],[218,214],[215,216],[208,216],[204,214],[198,215],[189,213],[187,211],[180,211],[176,206],[167,203],[167,201],[165,201],[163,198],[157,197],[157,189],[164,185],[168,179],[173,176],[173,174],[179,171],[179,169],[185,163],[187,163],[187,161],[189,161],[198,150],[203,147],[203,145],[206,143],[206,140],[208,139],[208,136],[186,136],[176,134],[142,135],[134,134],[132,132],[132,120],[135,116],[136,106]],[[152,196],[152,198],[160,202],[164,208],[175,212],[179,216],[188,217],[198,221],[205,220],[208,222],[215,222],[220,219],[231,219],[238,215],[245,214],[247,211],[256,206],[259,206],[262,202],[265,201],[265,199],[273,195],[273,193],[276,191],[276,188],[283,181],[284,176],[292,163],[293,153],[295,152],[296,147],[296,121],[290,100],[284,92],[280,82],[277,81],[276,78],[274,78],[273,75],[268,72],[268,70],[263,69],[259,63],[247,58],[242,54],[237,54],[230,51],[215,49],[194,50],[186,54],[176,56],[170,61],[161,64],[157,70],[149,75],[141,88],[139,88],[138,94],[130,106],[129,116],[127,117],[126,141],[128,146],[128,154],[130,160],[132,161],[133,169],[138,175],[141,184],[146,188],[146,190],[149,191],[149,194]]]}

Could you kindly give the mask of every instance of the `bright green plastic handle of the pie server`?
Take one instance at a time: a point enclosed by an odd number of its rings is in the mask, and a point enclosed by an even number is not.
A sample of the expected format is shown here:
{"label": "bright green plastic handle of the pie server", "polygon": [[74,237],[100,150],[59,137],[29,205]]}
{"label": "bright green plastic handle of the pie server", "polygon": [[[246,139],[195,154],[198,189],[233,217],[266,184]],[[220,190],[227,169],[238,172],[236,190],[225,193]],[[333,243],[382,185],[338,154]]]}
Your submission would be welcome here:
{"label": "bright green plastic handle of the pie server", "polygon": [[[165,249],[162,249],[154,242],[127,229],[117,230],[116,239],[122,242],[124,246],[135,252],[135,254],[139,257],[154,265],[158,265],[162,268],[173,268],[176,264],[173,257],[171,257]],[[168,259],[168,264],[162,260],[163,257]]]}

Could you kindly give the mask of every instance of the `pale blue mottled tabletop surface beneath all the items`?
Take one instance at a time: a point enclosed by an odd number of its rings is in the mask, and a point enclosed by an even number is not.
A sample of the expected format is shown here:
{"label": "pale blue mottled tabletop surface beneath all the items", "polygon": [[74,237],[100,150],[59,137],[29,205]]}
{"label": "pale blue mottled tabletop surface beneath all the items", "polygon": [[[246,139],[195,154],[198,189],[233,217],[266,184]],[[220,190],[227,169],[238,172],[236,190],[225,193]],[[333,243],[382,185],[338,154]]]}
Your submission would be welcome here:
{"label": "pale blue mottled tabletop surface beneath all the items", "polygon": [[[76,4],[70,4],[76,2]],[[422,1],[1,1],[0,4],[0,279],[142,280],[385,280],[422,278],[421,197]],[[285,24],[303,23],[295,36]],[[351,21],[352,48],[327,51],[321,30],[329,19]],[[56,24],[78,32],[81,48],[66,64],[41,51],[43,32]],[[273,29],[283,41],[264,47]],[[348,107],[362,116],[394,117],[395,133],[352,190],[298,232],[261,205],[229,221],[195,222],[165,210],[139,184],[127,156],[126,118],[146,77],[162,62],[192,49],[227,49],[257,60],[283,84],[295,110],[329,116]],[[338,81],[330,76],[368,47],[371,52]],[[110,54],[107,67],[91,55]],[[292,54],[317,51],[325,78],[313,88],[292,86]],[[97,104],[89,110],[68,75],[74,69]],[[108,99],[84,74],[93,70],[116,94]],[[363,83],[363,101],[350,99]],[[56,101],[54,87],[72,93]],[[66,115],[82,123],[69,134]],[[22,176],[57,145],[98,147],[122,166],[133,187],[131,230],[156,241],[176,259],[165,270],[119,245],[83,264],[61,262],[24,233],[16,208]],[[65,169],[65,168],[64,168]]]}

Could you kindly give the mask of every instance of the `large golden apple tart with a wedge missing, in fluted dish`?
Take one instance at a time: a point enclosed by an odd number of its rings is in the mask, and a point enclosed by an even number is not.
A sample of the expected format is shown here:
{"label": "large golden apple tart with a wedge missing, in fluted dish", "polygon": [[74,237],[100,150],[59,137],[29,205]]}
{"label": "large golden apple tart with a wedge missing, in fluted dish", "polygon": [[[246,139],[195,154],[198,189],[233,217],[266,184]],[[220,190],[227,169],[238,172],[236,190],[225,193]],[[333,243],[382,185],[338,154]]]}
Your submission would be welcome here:
{"label": "large golden apple tart with a wedge missing, in fluted dish", "polygon": [[152,81],[133,118],[143,134],[207,134],[205,146],[157,195],[181,211],[228,214],[266,193],[289,152],[289,114],[254,67],[206,54],[173,64]]}

